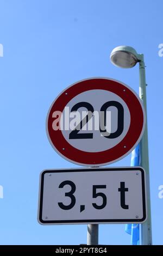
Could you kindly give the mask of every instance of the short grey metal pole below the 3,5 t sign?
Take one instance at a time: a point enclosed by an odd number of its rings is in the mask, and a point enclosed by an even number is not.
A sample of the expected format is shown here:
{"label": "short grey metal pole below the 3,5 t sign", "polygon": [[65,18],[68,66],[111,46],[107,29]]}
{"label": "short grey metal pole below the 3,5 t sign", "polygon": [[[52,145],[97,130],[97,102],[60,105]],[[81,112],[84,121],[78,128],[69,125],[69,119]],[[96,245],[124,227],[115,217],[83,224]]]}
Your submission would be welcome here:
{"label": "short grey metal pole below the 3,5 t sign", "polygon": [[87,245],[98,245],[98,224],[87,225]]}

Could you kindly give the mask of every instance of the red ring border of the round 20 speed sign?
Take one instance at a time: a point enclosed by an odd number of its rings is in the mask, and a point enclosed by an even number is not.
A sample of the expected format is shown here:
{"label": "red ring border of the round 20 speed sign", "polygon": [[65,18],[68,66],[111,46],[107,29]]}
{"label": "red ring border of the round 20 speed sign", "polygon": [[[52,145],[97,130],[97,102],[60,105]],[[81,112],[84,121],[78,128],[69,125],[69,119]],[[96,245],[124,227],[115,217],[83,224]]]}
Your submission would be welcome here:
{"label": "red ring border of the round 20 speed sign", "polygon": [[[66,141],[61,130],[54,131],[52,128],[54,111],[62,112],[73,97],[92,89],[108,90],[117,94],[126,102],[130,111],[130,127],[122,141],[111,149],[95,153],[74,148]],[[110,78],[89,78],[72,84],[53,101],[47,115],[46,130],[52,147],[66,160],[83,166],[103,166],[121,160],[136,147],[145,129],[145,119],[142,101],[133,89]]]}

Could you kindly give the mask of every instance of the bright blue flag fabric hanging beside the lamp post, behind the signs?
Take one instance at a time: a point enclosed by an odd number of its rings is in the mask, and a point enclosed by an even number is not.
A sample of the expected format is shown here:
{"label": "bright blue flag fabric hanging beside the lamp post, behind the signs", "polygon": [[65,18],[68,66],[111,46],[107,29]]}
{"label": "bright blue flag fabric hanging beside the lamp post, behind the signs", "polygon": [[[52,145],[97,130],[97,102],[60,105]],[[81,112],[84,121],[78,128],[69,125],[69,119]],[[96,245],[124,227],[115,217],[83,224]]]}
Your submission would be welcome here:
{"label": "bright blue flag fabric hanging beside the lamp post, behind the signs", "polygon": [[[140,166],[140,146],[131,153],[131,166]],[[139,245],[139,225],[140,224],[126,224],[125,231],[131,235],[131,245]]]}

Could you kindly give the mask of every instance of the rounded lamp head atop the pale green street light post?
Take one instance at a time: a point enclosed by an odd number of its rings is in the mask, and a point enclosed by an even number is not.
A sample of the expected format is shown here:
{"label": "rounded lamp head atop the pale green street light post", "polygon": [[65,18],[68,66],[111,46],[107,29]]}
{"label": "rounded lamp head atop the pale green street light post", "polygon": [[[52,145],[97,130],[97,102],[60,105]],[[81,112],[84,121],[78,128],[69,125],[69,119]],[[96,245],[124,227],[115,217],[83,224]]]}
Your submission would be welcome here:
{"label": "rounded lamp head atop the pale green street light post", "polygon": [[133,47],[118,46],[110,54],[111,63],[120,68],[133,68],[139,62],[138,54]]}

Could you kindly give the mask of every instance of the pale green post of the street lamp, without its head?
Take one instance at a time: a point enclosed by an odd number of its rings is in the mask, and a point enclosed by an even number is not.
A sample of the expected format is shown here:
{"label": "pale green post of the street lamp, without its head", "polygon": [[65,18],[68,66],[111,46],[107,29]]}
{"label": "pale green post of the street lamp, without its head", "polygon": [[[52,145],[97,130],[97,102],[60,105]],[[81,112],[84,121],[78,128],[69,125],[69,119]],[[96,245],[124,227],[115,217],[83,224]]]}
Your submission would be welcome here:
{"label": "pale green post of the street lamp, without its head", "polygon": [[[147,118],[147,99],[146,99],[146,73],[143,54],[139,54],[139,96],[143,101]],[[147,188],[147,221],[141,224],[141,244],[152,245],[152,225],[151,225],[151,200],[149,184],[149,157],[148,157],[148,130],[147,120],[145,132],[141,139],[141,166],[146,171],[146,188]]]}

